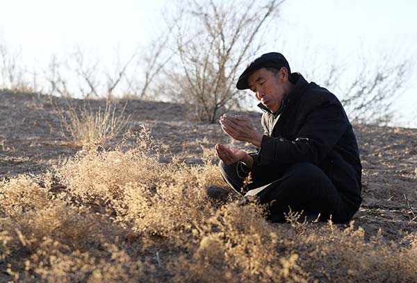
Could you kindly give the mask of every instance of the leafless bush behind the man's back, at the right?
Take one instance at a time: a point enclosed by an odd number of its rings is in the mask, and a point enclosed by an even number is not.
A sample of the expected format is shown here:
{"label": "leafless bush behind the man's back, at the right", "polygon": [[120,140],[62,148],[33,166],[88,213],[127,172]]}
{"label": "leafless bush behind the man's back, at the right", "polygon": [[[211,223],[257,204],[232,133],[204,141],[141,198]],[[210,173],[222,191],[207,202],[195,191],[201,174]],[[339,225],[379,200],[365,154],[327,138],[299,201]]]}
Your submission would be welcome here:
{"label": "leafless bush behind the man's back, at the right", "polygon": [[[329,52],[323,56],[313,47],[304,52],[304,75],[334,92],[345,107],[350,121],[384,126],[398,118],[395,100],[409,87],[413,59],[400,52],[396,60],[386,53],[343,58]],[[319,62],[320,60],[320,62]]]}

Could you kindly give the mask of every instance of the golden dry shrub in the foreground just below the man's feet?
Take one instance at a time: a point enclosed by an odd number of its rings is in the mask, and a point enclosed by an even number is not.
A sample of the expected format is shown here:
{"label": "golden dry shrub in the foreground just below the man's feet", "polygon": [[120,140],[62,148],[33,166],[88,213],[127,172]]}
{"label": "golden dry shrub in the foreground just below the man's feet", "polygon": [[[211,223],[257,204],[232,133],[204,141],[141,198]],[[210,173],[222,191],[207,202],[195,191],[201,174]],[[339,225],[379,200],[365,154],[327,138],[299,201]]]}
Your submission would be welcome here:
{"label": "golden dry shrub in the foreground just below the man's feet", "polygon": [[256,203],[229,203],[208,219],[198,248],[174,262],[177,282],[306,282],[297,255],[262,217]]}

